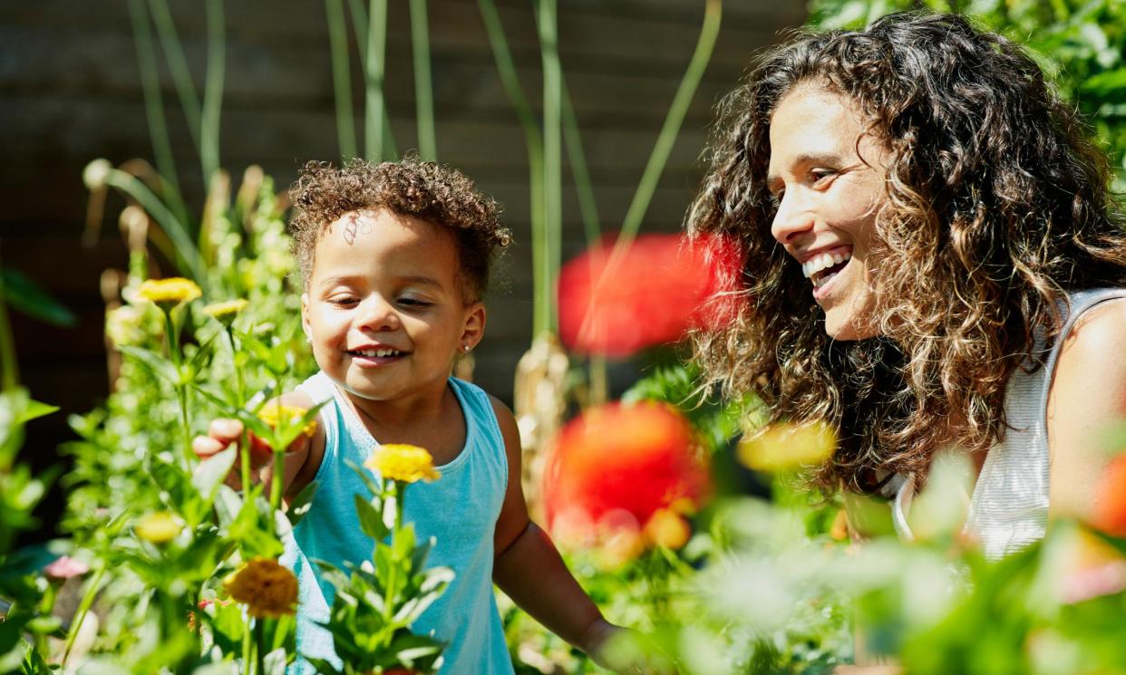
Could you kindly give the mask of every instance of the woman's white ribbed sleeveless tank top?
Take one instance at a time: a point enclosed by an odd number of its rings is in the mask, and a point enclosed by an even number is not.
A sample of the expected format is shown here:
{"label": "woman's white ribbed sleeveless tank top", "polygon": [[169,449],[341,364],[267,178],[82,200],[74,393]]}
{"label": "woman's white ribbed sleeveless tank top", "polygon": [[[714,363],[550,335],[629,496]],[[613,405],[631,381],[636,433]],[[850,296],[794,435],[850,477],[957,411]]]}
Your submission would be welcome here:
{"label": "woman's white ribbed sleeveless tank top", "polygon": [[[1031,374],[1018,369],[1009,379],[1004,393],[1009,430],[985,456],[963,530],[981,544],[989,559],[1044,538],[1048,521],[1047,405],[1056,358],[1075,321],[1094,305],[1115,298],[1126,298],[1126,288],[1069,294],[1070,307],[1064,308],[1067,321],[1045,366]],[[892,520],[900,538],[910,541],[913,536],[906,513],[914,495],[914,479],[895,478]]]}

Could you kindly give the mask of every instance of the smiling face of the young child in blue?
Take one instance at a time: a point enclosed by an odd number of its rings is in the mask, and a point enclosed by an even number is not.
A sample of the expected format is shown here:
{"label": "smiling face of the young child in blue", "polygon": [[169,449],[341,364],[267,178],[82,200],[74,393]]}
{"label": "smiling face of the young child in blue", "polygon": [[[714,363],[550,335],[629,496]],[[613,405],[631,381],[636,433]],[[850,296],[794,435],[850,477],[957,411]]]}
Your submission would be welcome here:
{"label": "smiling face of the young child in blue", "polygon": [[341,216],[316,243],[301,298],[318,366],[368,400],[441,394],[485,321],[481,303],[465,303],[458,267],[439,226],[387,210]]}

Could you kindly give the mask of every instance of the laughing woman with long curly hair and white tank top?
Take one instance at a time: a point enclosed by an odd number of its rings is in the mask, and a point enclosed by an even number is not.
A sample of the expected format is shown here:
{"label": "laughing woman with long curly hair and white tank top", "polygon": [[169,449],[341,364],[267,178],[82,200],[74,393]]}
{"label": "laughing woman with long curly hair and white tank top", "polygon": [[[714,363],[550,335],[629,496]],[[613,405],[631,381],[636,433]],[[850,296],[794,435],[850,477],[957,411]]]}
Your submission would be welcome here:
{"label": "laughing woman with long curly hair and white tank top", "polygon": [[[727,97],[688,216],[731,235],[748,302],[696,358],[769,423],[822,421],[825,489],[897,497],[936,453],[980,475],[1000,557],[1084,516],[1123,416],[1126,237],[1107,158],[1039,66],[957,16],[798,34]],[[769,426],[769,424],[768,424]]]}

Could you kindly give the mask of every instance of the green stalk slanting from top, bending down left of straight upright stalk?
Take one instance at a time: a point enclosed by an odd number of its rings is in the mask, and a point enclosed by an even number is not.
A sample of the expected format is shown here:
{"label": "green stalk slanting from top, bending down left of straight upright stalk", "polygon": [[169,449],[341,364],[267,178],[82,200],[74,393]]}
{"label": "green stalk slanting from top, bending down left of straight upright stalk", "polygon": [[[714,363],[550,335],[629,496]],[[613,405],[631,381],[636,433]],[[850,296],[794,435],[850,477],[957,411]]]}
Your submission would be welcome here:
{"label": "green stalk slanting from top, bending down left of straight upright stalk", "polygon": [[[516,117],[520,122],[520,127],[524,129],[525,142],[528,146],[528,171],[530,178],[531,200],[531,249],[533,251],[539,251],[544,246],[543,136],[539,133],[539,124],[536,122],[536,117],[531,111],[531,106],[528,104],[528,99],[524,94],[524,89],[520,87],[520,80],[516,74],[516,64],[513,63],[512,54],[508,48],[508,40],[504,37],[504,27],[500,21],[500,15],[497,12],[497,4],[493,0],[477,0],[477,7],[481,9],[481,19],[485,25],[485,33],[489,36],[489,44],[492,47],[493,58],[497,61],[497,72],[500,74],[500,81],[504,87],[504,93],[508,96],[509,102],[512,104],[512,108],[516,110]],[[546,273],[546,270],[540,267],[540,258],[535,254],[531,259],[531,271],[535,280],[534,303],[535,306],[538,307],[544,303],[551,302],[552,294],[548,291],[546,296],[542,295],[543,286],[540,279]],[[542,321],[540,313],[534,313],[534,334],[538,335],[546,330],[548,330],[548,324]]]}

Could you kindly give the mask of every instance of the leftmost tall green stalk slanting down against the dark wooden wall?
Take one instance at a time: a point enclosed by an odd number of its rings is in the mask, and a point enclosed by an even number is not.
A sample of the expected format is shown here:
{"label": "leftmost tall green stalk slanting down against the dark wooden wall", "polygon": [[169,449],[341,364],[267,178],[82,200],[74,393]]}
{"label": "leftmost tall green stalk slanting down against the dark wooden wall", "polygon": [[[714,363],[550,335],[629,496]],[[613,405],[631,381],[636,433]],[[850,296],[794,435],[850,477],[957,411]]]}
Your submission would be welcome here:
{"label": "leftmost tall green stalk slanting down against the dark wooden wall", "polygon": [[181,223],[188,220],[188,209],[180,192],[180,180],[176,172],[176,159],[164,120],[164,100],[160,92],[160,75],[157,73],[157,47],[149,28],[149,12],[143,0],[129,0],[129,21],[136,38],[137,69],[141,72],[141,90],[144,94],[145,119],[149,123],[149,141],[152,143],[157,172],[163,181],[162,192],[171,210]]}

